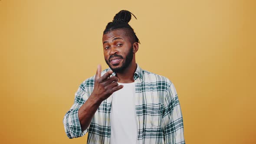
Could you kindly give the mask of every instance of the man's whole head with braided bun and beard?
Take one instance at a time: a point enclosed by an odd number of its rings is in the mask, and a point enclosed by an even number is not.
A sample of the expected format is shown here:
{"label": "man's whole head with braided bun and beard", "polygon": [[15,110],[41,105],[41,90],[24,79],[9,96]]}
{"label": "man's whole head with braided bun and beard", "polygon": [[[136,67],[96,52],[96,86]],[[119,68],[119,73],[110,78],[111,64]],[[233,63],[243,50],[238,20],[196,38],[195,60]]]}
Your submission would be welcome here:
{"label": "man's whole head with braided bun and beard", "polygon": [[131,14],[127,10],[121,10],[115,15],[114,20],[108,23],[103,33],[105,61],[116,73],[124,72],[132,62],[135,63],[139,40],[128,24]]}

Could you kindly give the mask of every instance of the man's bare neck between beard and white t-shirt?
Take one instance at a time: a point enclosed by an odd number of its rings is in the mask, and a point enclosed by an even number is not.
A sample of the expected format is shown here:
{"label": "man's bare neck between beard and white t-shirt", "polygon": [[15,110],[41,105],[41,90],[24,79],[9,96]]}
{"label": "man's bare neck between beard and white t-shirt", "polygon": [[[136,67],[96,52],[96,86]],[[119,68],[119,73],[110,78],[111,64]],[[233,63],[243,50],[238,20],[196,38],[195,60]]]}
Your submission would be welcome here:
{"label": "man's bare neck between beard and white t-shirt", "polygon": [[131,64],[121,73],[116,73],[120,83],[131,83],[134,82],[133,76],[137,69],[135,61],[132,61]]}

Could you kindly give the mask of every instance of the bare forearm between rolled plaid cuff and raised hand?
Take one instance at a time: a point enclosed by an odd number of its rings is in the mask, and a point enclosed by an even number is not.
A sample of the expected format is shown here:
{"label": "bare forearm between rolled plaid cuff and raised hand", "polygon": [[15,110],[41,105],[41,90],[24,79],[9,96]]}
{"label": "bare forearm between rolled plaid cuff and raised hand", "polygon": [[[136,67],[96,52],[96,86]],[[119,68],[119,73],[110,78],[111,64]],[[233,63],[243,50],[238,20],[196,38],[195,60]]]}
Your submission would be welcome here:
{"label": "bare forearm between rolled plaid cuff and raised hand", "polygon": [[101,103],[102,100],[92,94],[81,108],[79,108],[78,116],[82,131],[89,127],[92,118]]}

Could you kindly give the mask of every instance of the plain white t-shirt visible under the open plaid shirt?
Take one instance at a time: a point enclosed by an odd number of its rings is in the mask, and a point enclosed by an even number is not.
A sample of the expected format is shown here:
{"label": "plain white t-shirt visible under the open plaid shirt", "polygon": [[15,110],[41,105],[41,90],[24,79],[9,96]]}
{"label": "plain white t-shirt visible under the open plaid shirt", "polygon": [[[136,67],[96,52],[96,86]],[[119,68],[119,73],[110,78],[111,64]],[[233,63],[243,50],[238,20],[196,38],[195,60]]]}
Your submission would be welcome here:
{"label": "plain white t-shirt visible under the open plaid shirt", "polygon": [[110,144],[136,144],[135,82],[112,94]]}

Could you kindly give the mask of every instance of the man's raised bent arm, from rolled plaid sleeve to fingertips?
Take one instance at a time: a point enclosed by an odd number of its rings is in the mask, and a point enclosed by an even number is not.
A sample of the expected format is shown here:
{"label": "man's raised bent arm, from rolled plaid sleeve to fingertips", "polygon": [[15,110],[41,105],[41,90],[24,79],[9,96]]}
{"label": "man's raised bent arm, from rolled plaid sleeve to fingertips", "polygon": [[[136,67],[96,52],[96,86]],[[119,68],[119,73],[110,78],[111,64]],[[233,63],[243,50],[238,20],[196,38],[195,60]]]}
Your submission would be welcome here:
{"label": "man's raised bent arm, from rolled plaid sleeve to fingertips", "polygon": [[118,85],[118,78],[111,76],[112,71],[101,76],[98,66],[95,75],[94,88],[90,96],[86,92],[85,82],[81,84],[76,92],[75,103],[63,118],[65,132],[69,138],[82,137],[88,132],[88,127],[102,101],[107,99],[113,92],[123,88]]}

